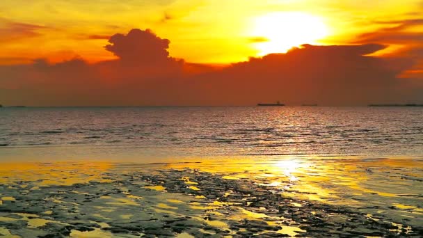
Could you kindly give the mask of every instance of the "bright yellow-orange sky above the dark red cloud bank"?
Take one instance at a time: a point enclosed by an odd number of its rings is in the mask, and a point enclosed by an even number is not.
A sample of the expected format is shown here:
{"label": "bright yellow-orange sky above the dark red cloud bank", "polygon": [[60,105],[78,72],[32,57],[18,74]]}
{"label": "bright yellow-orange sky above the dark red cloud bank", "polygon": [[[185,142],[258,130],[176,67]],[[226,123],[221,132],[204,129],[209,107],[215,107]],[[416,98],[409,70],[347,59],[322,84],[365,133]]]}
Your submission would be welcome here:
{"label": "bright yellow-orange sky above the dark red cloud bank", "polygon": [[169,39],[174,57],[232,63],[304,43],[349,44],[387,26],[381,22],[418,18],[422,8],[417,0],[2,1],[0,58],[101,61],[113,58],[102,49],[109,36],[138,28]]}

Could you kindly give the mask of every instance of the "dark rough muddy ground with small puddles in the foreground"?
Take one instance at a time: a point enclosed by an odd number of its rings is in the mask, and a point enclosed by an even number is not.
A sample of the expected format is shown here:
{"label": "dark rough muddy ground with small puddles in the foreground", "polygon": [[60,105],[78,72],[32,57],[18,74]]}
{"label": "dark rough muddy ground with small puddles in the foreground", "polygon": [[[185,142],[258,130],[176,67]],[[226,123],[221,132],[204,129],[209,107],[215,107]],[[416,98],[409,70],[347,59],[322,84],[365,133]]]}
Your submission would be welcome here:
{"label": "dark rough muddy ground with small puddles in the foreground", "polygon": [[248,177],[160,168],[109,171],[101,180],[1,184],[0,237],[423,236],[423,224],[283,196]]}

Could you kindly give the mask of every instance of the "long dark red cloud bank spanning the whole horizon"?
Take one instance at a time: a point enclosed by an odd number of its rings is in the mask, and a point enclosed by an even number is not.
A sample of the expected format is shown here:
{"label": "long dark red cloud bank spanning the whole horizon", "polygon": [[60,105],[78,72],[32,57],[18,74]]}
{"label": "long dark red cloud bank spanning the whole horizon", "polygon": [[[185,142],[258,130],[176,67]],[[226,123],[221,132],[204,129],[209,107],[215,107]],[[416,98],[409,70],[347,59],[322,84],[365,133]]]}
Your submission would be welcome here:
{"label": "long dark red cloud bank spanning the whole horizon", "polygon": [[386,47],[376,43],[303,45],[287,54],[212,67],[171,57],[170,41],[150,30],[115,34],[109,42],[106,50],[118,56],[113,61],[89,64],[74,58],[51,64],[40,59],[0,66],[0,102],[89,106],[423,101],[423,85],[401,76],[411,69],[414,76],[421,74],[413,68],[417,56],[369,56]]}

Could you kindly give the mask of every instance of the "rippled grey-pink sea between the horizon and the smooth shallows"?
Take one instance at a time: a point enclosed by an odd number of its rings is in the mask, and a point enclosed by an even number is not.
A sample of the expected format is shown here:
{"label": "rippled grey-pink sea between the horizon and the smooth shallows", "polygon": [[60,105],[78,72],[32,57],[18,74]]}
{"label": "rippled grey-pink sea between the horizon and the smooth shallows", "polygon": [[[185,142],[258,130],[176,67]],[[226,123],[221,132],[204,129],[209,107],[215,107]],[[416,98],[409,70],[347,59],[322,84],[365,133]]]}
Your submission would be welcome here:
{"label": "rippled grey-pink sea between the horizon and the smooth shallows", "polygon": [[423,108],[0,108],[0,145],[0,154],[90,148],[84,153],[421,156]]}

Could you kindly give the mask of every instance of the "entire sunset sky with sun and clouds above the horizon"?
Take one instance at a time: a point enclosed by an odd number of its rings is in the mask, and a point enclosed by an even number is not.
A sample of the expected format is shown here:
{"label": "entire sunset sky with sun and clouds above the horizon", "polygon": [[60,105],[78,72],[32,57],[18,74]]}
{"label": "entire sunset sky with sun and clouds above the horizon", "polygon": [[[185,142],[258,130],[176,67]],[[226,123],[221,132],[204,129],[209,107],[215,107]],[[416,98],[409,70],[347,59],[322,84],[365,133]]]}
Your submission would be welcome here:
{"label": "entire sunset sky with sun and clouds above the horizon", "polygon": [[0,3],[0,104],[423,103],[422,0]]}

